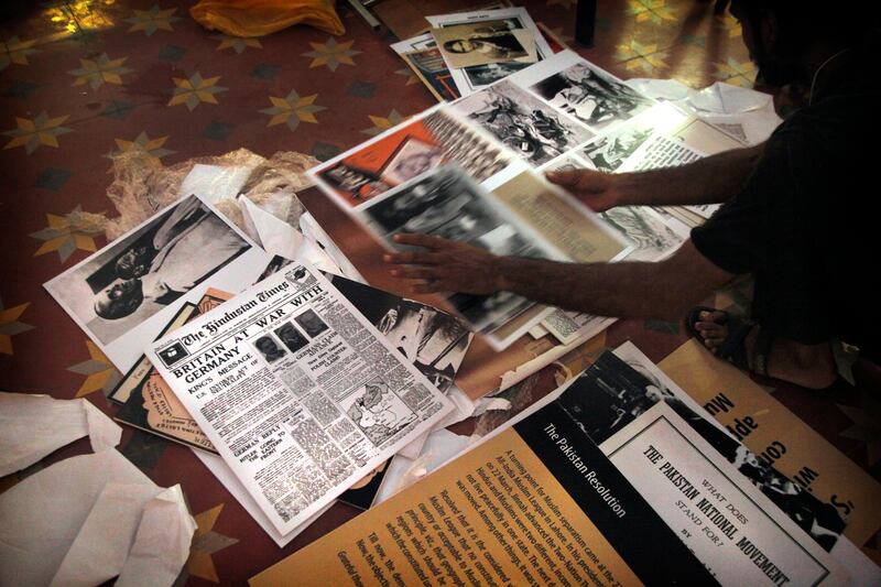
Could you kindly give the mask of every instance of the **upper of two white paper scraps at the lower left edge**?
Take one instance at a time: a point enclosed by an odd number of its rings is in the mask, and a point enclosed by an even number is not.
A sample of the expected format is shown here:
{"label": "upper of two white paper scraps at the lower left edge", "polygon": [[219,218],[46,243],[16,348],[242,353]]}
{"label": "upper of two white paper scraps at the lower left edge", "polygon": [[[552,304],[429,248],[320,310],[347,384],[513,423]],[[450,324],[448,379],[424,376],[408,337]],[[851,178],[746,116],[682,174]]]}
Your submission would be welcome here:
{"label": "upper of two white paper scraps at the lower left edge", "polygon": [[0,477],[86,435],[99,453],[119,444],[122,428],[85,399],[0,392]]}

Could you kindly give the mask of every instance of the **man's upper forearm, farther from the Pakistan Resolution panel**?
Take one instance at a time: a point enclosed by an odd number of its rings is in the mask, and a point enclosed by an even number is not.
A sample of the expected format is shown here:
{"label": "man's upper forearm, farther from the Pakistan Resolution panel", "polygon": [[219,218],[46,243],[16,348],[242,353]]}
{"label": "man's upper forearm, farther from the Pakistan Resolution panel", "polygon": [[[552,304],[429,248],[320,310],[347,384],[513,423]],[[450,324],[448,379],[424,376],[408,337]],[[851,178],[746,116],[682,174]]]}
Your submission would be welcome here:
{"label": "man's upper forearm, farther from the Pakistan Resolution panel", "polygon": [[678,167],[614,176],[619,205],[687,206],[719,204],[746,184],[764,151],[764,143],[710,155]]}

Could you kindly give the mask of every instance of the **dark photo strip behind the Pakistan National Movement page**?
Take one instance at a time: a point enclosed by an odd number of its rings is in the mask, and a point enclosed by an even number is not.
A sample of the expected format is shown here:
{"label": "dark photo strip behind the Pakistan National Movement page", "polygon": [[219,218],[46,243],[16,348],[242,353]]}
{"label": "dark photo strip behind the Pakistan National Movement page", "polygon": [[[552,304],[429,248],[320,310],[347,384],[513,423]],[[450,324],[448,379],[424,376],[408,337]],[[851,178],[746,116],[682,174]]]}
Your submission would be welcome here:
{"label": "dark photo strip behind the Pakistan National Movement page", "polygon": [[826,551],[831,550],[845,529],[845,521],[833,506],[802,491],[773,466],[686,405],[638,361],[624,361],[606,351],[557,401],[598,445],[663,401]]}

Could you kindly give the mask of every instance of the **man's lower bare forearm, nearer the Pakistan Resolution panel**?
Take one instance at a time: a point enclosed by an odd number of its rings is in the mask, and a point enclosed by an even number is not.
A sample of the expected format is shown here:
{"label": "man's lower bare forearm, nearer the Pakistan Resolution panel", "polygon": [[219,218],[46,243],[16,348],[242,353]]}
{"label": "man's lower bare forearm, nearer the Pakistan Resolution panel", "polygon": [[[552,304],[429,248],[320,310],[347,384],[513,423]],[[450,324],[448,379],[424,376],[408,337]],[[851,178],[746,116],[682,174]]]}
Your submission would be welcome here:
{"label": "man's lower bare forearm, nearer the Pakistan Resolution panel", "polygon": [[598,316],[677,319],[731,279],[683,244],[662,262],[561,263],[504,257],[499,285],[535,302]]}

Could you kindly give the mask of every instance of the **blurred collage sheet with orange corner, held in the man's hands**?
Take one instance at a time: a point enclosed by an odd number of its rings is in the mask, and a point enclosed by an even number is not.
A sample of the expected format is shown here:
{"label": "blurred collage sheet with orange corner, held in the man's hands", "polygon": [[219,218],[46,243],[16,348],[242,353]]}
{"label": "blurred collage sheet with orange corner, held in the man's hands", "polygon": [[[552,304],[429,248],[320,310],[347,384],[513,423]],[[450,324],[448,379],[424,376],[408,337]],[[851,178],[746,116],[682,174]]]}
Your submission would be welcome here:
{"label": "blurred collage sheet with orange corner, held in the man's hands", "polygon": [[[685,163],[701,156],[670,138],[686,120],[564,51],[434,107],[311,174],[388,248],[398,247],[395,233],[427,232],[499,254],[656,260],[687,237],[687,227],[648,207],[596,215],[546,182],[543,172],[612,172],[635,165],[637,157]],[[537,307],[507,293],[482,300],[450,295],[449,302],[497,350],[527,333],[550,333],[568,345],[612,322]]]}

